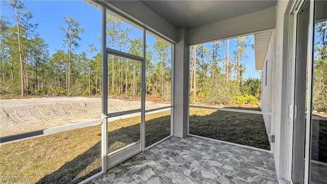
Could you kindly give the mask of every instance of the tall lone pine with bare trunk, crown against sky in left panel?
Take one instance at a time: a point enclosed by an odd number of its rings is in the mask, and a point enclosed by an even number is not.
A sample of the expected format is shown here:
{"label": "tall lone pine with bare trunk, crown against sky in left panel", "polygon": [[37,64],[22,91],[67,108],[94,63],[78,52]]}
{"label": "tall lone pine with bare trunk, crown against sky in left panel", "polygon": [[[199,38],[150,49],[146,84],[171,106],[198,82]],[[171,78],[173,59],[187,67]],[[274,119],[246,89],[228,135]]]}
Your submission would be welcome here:
{"label": "tall lone pine with bare trunk, crown against sky in left panel", "polygon": [[78,48],[78,42],[80,41],[81,38],[79,37],[80,33],[84,32],[83,28],[80,28],[80,24],[74,20],[74,18],[72,16],[63,16],[62,17],[65,21],[65,24],[67,25],[66,28],[63,27],[59,27],[59,29],[61,29],[64,33],[65,33],[65,38],[63,39],[63,47],[67,47],[68,48],[68,74],[67,74],[67,90],[69,91],[71,89],[71,65],[72,65],[72,51],[74,51],[74,49],[72,47]]}

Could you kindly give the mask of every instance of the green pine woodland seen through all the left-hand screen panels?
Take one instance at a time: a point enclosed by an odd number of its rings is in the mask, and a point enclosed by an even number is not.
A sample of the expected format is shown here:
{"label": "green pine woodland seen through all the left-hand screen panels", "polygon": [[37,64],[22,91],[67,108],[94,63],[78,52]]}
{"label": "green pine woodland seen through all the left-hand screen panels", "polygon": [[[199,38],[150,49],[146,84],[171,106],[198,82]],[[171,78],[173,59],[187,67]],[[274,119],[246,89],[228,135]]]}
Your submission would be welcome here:
{"label": "green pine woodland seen through all the left-hand screen panels", "polygon": [[[90,43],[77,53],[84,29],[74,17],[63,16],[62,48],[50,55],[49,45],[37,34],[37,24],[21,1],[17,2],[20,44],[16,21],[1,16],[0,30],[0,94],[20,94],[20,76],[24,76],[25,94],[49,96],[88,96],[101,94],[101,49]],[[12,7],[13,4],[8,4]],[[16,6],[16,5],[15,5]],[[20,7],[21,6],[21,7]],[[14,8],[14,7],[13,7]],[[14,12],[14,11],[13,11]],[[15,17],[15,15],[13,16]],[[12,21],[12,24],[11,24]],[[146,49],[147,95],[163,101],[171,99],[172,45],[156,39],[153,45],[143,48],[143,38],[130,38],[131,28],[121,18],[107,16],[108,47],[135,56],[143,56]],[[19,49],[22,48],[23,68],[20,68]],[[141,96],[141,63],[119,57],[108,58],[109,95]],[[24,71],[24,75],[20,75]]]}

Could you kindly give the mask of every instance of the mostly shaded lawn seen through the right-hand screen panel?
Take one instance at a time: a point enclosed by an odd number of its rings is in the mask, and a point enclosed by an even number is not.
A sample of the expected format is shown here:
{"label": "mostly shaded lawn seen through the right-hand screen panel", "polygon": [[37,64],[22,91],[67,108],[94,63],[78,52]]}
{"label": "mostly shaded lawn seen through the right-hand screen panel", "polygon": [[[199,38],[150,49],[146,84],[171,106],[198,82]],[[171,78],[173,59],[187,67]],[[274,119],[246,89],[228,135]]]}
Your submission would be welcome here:
{"label": "mostly shaded lawn seen through the right-hand screen panel", "polygon": [[[258,108],[241,109],[258,110]],[[190,108],[190,133],[270,150],[261,114]]]}

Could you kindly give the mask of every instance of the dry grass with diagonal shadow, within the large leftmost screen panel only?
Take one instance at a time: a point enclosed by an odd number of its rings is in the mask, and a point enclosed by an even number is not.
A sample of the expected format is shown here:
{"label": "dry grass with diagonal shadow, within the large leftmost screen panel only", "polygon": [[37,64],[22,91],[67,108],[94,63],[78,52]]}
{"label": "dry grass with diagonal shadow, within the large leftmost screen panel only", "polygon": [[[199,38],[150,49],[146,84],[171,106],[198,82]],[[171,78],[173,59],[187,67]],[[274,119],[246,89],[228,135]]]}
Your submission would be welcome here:
{"label": "dry grass with diagonal shadow, within the large leftmost screen panel only", "polygon": [[4,143],[0,173],[27,183],[78,183],[101,171],[100,143],[101,125]]}

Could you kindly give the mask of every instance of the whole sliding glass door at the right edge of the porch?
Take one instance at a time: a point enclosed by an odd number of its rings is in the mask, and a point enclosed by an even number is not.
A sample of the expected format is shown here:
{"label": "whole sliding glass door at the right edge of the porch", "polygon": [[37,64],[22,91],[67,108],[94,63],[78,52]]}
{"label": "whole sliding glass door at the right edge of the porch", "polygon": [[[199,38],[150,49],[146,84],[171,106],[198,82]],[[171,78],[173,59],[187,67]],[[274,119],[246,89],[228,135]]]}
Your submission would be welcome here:
{"label": "whole sliding glass door at the right edge of the porch", "polygon": [[325,183],[327,173],[326,6],[304,1],[295,11],[293,183]]}

